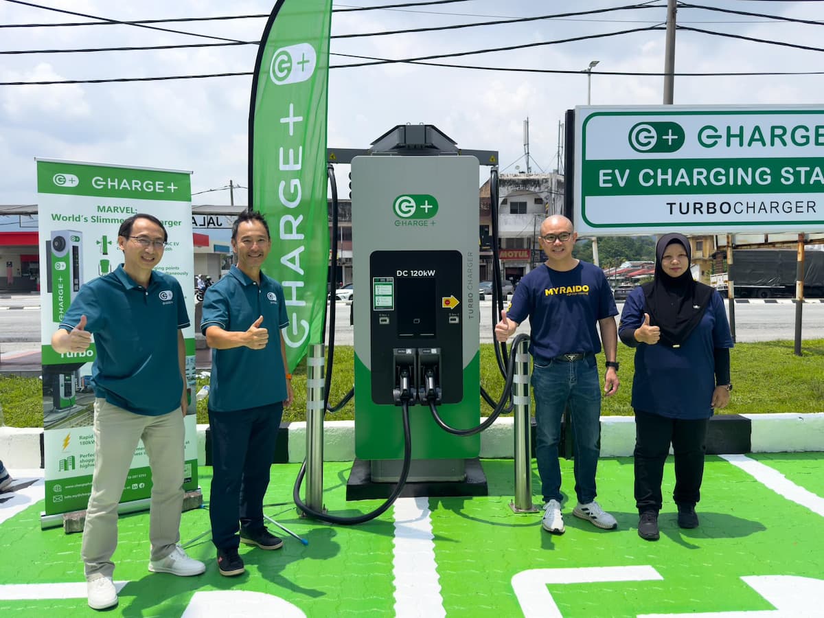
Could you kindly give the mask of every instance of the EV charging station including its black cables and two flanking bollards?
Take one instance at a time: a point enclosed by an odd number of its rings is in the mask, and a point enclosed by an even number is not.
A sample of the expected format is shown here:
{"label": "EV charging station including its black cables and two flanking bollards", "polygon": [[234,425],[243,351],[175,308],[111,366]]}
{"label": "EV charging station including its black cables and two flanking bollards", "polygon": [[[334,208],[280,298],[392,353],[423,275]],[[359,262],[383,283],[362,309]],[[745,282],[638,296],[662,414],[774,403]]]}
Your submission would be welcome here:
{"label": "EV charging station including its black cables and two flanking bollards", "polygon": [[[505,378],[500,399],[494,401],[480,386],[477,187],[480,165],[492,166],[493,204],[498,199],[498,153],[459,150],[432,125],[407,124],[384,133],[369,150],[330,148],[327,162],[335,232],[333,164],[352,166],[354,386],[330,406],[334,339],[325,379],[323,345],[311,346],[307,457],[293,487],[299,513],[353,525],[385,513],[401,495],[486,495],[480,432],[504,411],[515,413],[516,487],[510,507],[534,512],[527,335],[517,335],[508,360],[503,344],[495,349]],[[496,233],[494,226],[494,238]],[[336,237],[333,233],[332,255]],[[493,248],[497,252],[495,240]],[[497,265],[494,269],[499,279]],[[334,271],[330,284],[334,288]],[[500,289],[497,297],[499,311]],[[330,332],[335,332],[334,303]],[[323,505],[323,418],[352,396],[355,461],[346,499],[386,500],[370,513],[343,517],[326,513]],[[483,422],[481,396],[494,408]]]}

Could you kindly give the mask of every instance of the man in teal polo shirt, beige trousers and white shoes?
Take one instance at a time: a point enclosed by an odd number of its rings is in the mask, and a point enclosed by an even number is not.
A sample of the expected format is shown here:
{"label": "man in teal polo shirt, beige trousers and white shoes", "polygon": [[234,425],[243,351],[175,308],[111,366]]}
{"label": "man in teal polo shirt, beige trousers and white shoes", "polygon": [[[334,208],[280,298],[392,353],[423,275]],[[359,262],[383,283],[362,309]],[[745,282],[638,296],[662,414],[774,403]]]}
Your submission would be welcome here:
{"label": "man in teal polo shirt, beige trousers and white shoes", "polygon": [[52,336],[58,353],[82,352],[95,335],[95,470],[83,528],[89,606],[117,604],[111,557],[120,496],[138,440],[152,469],[148,569],[198,575],[205,565],[180,548],[183,506],[185,343],[189,325],[180,283],[154,270],[168,238],[162,222],[136,214],[119,228],[124,263],[80,288]]}

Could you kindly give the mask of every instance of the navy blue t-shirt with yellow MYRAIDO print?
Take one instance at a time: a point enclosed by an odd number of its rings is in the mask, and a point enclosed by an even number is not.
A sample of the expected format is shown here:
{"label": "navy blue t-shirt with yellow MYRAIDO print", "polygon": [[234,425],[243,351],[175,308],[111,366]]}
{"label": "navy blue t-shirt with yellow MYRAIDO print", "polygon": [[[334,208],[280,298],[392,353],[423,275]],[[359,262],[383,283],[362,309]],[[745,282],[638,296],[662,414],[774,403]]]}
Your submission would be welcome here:
{"label": "navy blue t-shirt with yellow MYRAIDO print", "polygon": [[604,272],[579,260],[572,270],[542,264],[518,283],[507,316],[522,322],[529,316],[529,351],[548,360],[561,354],[598,353],[597,321],[618,315]]}

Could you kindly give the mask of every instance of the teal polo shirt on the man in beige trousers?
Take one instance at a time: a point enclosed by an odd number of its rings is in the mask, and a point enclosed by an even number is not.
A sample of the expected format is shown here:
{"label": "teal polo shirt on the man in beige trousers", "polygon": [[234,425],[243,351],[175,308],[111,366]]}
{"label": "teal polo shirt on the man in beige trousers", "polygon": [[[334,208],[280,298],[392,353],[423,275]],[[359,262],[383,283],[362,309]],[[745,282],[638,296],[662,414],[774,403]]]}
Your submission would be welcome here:
{"label": "teal polo shirt on the man in beige trousers", "polygon": [[96,396],[148,416],[180,407],[177,331],[189,325],[189,314],[177,279],[152,270],[143,288],[121,264],[80,288],[60,328],[72,330],[81,316],[95,335],[91,380]]}

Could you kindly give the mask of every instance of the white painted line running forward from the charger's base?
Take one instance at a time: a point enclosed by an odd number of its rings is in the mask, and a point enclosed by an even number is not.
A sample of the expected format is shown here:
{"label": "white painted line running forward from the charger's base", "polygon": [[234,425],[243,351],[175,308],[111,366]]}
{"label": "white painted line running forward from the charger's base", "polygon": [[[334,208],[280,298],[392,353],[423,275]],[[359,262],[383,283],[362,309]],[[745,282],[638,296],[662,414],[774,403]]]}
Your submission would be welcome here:
{"label": "white painted line running forward from the charger's base", "polygon": [[395,502],[395,616],[446,616],[435,563],[435,543],[428,498],[399,498]]}

